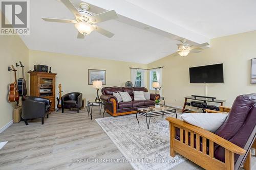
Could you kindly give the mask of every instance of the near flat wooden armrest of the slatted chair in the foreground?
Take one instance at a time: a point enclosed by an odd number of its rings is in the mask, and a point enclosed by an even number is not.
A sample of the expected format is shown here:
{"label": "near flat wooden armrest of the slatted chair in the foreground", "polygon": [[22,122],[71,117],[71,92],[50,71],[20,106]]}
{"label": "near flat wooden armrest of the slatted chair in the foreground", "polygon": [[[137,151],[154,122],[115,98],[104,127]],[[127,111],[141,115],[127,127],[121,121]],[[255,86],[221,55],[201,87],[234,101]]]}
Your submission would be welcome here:
{"label": "near flat wooden armrest of the slatted chair in the foreground", "polygon": [[233,152],[233,153],[236,153],[236,154],[239,154],[239,155],[244,155],[245,154],[245,150],[243,148],[240,148],[238,145],[236,144],[233,144],[231,143],[230,141],[214,134],[214,133],[211,133],[210,131],[207,131],[207,130],[204,130],[202,128],[199,128],[197,126],[194,126],[194,125],[191,125],[191,124],[188,124],[180,119],[176,119],[176,118],[173,118],[173,117],[167,117],[166,120],[168,120],[169,122],[171,123],[174,123],[175,125],[178,125],[180,127],[184,127],[190,131],[193,131],[197,134],[199,134],[200,136],[203,136],[219,145],[221,145],[223,148]]}

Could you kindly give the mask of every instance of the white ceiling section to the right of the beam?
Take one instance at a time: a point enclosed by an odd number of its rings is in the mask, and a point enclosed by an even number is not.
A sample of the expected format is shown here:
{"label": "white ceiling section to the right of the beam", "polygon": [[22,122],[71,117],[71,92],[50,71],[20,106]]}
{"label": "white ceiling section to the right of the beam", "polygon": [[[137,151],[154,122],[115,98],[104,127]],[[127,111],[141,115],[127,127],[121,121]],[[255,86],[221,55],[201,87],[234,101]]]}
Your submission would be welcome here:
{"label": "white ceiling section to the right of the beam", "polygon": [[256,30],[255,0],[126,0],[207,38]]}

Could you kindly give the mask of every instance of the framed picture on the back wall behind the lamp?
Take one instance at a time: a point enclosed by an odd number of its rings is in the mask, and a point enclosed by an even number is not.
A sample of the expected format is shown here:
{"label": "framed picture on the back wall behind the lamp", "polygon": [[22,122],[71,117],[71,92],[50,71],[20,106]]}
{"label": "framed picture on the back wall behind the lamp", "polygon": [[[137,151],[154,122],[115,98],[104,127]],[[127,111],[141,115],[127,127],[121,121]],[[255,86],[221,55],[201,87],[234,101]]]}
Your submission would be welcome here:
{"label": "framed picture on the back wall behind the lamp", "polygon": [[106,70],[88,69],[88,84],[92,85],[93,81],[101,80],[102,84],[106,84]]}

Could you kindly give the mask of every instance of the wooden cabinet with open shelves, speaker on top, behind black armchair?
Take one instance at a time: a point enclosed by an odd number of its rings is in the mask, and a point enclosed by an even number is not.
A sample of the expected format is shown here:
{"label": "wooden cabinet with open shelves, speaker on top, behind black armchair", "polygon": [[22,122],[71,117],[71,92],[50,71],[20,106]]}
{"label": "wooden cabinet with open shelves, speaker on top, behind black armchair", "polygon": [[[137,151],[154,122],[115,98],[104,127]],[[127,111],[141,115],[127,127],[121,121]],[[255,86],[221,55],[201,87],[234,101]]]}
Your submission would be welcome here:
{"label": "wooden cabinet with open shelves, speaker on top, behind black armchair", "polygon": [[56,75],[48,72],[30,72],[30,95],[49,99],[51,102],[51,111],[55,110]]}

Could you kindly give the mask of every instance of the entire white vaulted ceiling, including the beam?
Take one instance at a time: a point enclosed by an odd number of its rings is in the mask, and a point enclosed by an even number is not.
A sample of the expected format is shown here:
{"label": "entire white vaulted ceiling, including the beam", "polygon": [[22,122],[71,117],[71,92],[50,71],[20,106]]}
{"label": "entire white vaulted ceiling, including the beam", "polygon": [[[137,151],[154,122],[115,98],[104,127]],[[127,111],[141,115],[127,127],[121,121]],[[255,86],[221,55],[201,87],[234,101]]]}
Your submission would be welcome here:
{"label": "entire white vaulted ceiling, including the beam", "polygon": [[[80,0],[71,0],[79,7]],[[30,1],[30,36],[22,36],[29,49],[137,63],[150,63],[174,53],[178,40],[193,45],[209,38],[256,30],[255,2],[84,0],[93,13],[115,10],[119,18],[99,24],[115,34],[106,38],[92,32],[77,39],[70,23],[54,23],[42,17],[74,19],[57,0]]]}

